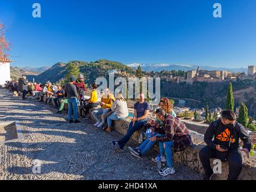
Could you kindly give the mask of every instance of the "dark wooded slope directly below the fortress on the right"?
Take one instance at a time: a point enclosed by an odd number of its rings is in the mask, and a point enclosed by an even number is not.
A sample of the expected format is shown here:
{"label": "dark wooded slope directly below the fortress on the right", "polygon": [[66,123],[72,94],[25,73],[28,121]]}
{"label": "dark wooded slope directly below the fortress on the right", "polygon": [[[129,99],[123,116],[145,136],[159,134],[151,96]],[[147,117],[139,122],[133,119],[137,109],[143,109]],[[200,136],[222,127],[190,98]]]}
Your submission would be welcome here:
{"label": "dark wooded slope directly below the fortress on the right", "polygon": [[[210,108],[225,108],[228,83],[195,82],[189,85],[161,82],[161,95],[175,98],[176,101],[186,100],[186,106],[190,107],[201,108],[208,104]],[[256,116],[256,82],[254,80],[233,82],[233,91],[235,106],[238,107],[243,102],[248,107],[249,115]]]}

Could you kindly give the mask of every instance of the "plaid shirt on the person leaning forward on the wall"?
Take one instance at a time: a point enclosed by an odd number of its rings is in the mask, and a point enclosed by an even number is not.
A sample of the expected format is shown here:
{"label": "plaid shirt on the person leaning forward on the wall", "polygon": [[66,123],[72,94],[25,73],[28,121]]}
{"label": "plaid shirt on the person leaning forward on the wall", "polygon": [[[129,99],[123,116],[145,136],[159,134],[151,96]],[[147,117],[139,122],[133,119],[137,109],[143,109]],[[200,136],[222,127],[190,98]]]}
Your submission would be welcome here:
{"label": "plaid shirt on the person leaning forward on the wall", "polygon": [[173,151],[184,151],[187,145],[193,146],[191,136],[187,127],[180,119],[167,115],[164,121],[164,137],[157,137],[159,142],[173,141]]}

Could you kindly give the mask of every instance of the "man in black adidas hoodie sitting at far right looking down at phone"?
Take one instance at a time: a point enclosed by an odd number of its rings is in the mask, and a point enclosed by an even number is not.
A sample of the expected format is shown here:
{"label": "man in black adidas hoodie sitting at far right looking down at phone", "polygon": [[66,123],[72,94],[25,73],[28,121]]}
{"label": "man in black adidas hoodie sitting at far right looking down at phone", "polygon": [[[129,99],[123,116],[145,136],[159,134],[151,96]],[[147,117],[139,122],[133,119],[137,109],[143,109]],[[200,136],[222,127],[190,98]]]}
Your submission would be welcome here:
{"label": "man in black adidas hoodie sitting at far right looking down at phone", "polygon": [[[239,139],[243,141],[243,149],[241,150]],[[204,179],[210,180],[214,175],[210,158],[217,158],[222,162],[228,161],[228,180],[237,180],[242,171],[241,151],[249,157],[251,139],[243,125],[236,122],[236,115],[232,110],[224,110],[221,119],[210,124],[205,133],[204,141],[207,146],[199,152],[202,166],[205,169]]]}

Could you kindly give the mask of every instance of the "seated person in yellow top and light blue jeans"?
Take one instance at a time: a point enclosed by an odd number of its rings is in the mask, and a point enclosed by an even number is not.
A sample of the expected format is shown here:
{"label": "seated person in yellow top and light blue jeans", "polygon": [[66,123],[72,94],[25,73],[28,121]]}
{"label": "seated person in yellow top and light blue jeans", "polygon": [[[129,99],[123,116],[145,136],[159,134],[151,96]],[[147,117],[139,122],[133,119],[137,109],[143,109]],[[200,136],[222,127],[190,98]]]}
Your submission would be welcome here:
{"label": "seated person in yellow top and light blue jeans", "polygon": [[[110,112],[113,103],[114,96],[110,94],[110,90],[107,88],[105,90],[105,95],[102,95],[101,102],[99,102],[101,108],[92,112],[95,119],[97,119],[95,126],[102,127],[102,125],[104,125],[106,121],[106,114]],[[101,118],[99,115],[101,115]]]}

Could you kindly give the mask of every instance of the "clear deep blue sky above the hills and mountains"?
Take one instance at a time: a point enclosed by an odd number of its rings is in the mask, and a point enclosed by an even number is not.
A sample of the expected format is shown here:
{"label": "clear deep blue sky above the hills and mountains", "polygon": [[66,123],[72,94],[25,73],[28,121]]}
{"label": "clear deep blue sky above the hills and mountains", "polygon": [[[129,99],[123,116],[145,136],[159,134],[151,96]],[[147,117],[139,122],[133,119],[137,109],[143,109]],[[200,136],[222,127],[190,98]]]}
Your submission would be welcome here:
{"label": "clear deep blue sky above the hills and mountains", "polygon": [[[40,19],[32,17],[34,2]],[[0,1],[18,67],[73,59],[247,67],[256,64],[255,20],[255,0]]]}

